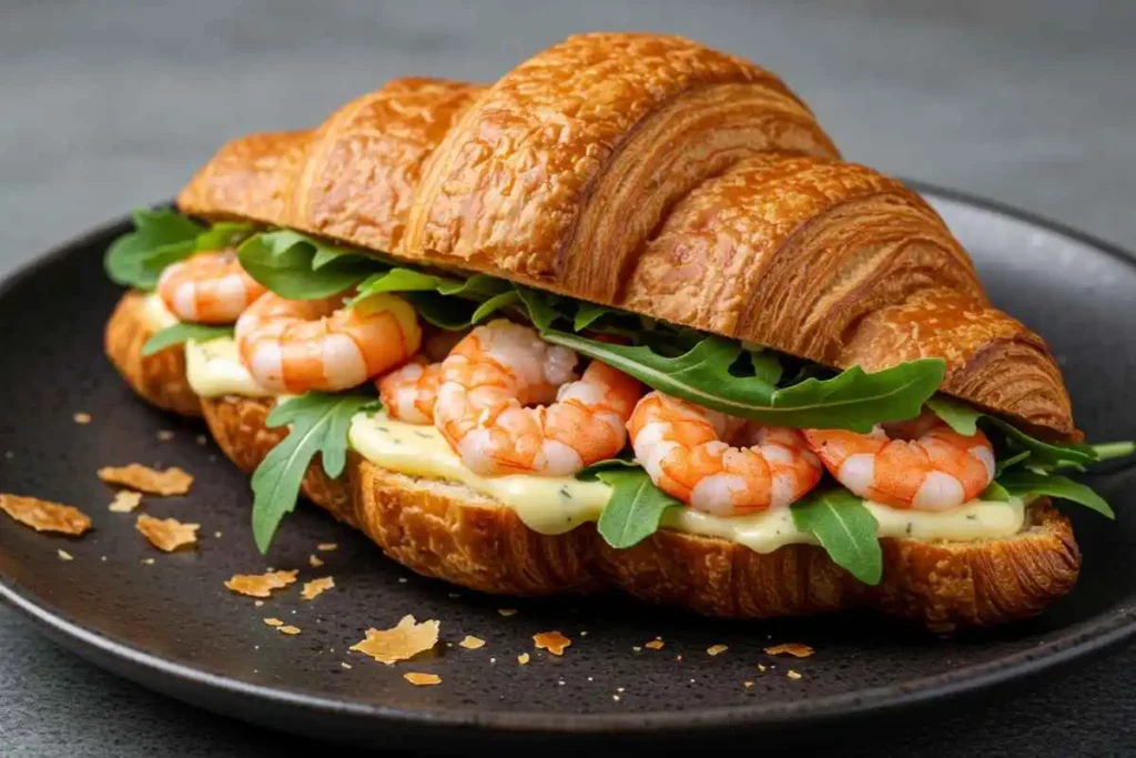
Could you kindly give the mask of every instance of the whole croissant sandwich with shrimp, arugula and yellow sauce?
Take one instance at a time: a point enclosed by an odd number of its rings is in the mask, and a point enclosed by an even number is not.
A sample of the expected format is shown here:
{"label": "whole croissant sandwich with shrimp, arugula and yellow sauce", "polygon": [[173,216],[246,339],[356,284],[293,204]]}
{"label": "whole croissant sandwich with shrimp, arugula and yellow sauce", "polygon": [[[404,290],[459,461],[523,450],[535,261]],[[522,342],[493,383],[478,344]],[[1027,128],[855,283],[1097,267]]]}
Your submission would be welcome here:
{"label": "whole croissant sandwich with shrimp, arugula and yellow sauce", "polygon": [[[1027,617],[1089,445],[1045,342],[776,75],[567,39],[224,147],[106,268],[106,350],[203,416],[270,549],[302,497],[490,593]],[[1068,473],[1068,472],[1066,472]]]}

